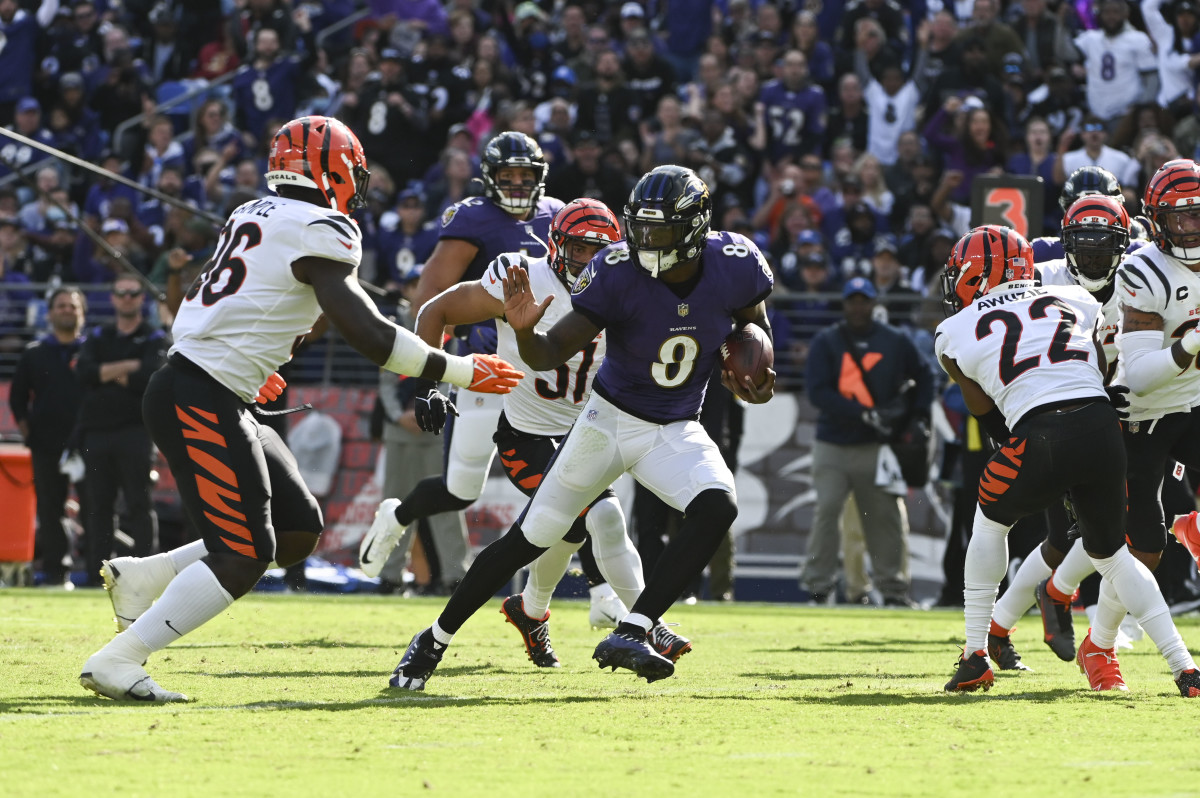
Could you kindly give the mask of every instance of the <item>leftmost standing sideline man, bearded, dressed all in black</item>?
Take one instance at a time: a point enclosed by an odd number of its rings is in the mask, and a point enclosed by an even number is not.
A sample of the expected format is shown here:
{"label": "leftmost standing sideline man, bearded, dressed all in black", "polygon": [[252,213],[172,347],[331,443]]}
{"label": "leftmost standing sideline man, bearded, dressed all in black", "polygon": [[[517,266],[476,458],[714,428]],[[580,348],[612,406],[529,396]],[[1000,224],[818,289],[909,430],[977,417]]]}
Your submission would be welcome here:
{"label": "leftmost standing sideline man, bearded, dressed all in black", "polygon": [[[0,266],[2,269],[2,266]],[[8,392],[8,407],[29,446],[37,494],[37,538],[34,558],[41,560],[44,584],[66,578],[70,534],[66,503],[70,479],[59,469],[79,415],[79,384],[72,364],[83,343],[88,302],[78,288],[55,289],[47,301],[49,331],[25,348]]]}

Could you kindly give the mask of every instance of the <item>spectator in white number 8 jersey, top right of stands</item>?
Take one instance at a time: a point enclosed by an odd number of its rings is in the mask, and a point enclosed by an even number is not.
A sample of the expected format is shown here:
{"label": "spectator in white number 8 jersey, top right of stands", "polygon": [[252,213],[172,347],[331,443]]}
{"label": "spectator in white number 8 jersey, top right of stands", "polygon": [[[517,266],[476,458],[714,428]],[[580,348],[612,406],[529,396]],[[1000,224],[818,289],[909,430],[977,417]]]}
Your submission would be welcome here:
{"label": "spectator in white number 8 jersey, top right of stands", "polygon": [[1100,26],[1076,36],[1075,47],[1087,67],[1088,112],[1115,125],[1139,98],[1154,97],[1158,65],[1153,42],[1129,24],[1126,0],[1100,0],[1097,8]]}

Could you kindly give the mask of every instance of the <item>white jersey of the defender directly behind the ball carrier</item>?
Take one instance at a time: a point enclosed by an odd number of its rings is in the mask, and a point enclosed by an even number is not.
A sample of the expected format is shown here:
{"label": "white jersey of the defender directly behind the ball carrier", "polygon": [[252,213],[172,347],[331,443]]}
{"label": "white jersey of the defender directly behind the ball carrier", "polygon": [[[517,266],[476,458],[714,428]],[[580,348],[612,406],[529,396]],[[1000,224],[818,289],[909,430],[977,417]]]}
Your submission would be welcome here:
{"label": "white jersey of the defender directly behind the ball carrier", "polygon": [[[545,332],[554,326],[558,319],[571,312],[570,290],[554,275],[546,258],[529,258],[529,287],[533,295],[544,300],[550,294],[556,299],[546,308],[546,314],[538,322],[538,332]],[[484,289],[504,301],[505,268],[497,258],[488,264],[479,283]],[[595,341],[558,368],[535,372],[521,359],[517,337],[504,319],[496,320],[496,353],[526,372],[512,392],[504,395],[504,415],[509,424],[521,432],[539,436],[560,437],[575,424],[576,416],[592,394],[592,379],[600,370],[605,353],[605,334],[600,332]]]}

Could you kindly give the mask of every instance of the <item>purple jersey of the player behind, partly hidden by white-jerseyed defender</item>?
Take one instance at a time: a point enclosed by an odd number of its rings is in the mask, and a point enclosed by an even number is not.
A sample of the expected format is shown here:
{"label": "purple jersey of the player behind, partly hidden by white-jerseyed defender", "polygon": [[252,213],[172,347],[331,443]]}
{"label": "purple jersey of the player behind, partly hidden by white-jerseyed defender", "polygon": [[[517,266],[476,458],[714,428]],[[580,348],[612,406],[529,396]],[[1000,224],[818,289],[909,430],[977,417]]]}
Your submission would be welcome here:
{"label": "purple jersey of the player behind, partly hidden by white-jerseyed defender", "polygon": [[[551,197],[538,200],[528,222],[512,218],[486,197],[468,197],[442,212],[438,240],[458,239],[475,245],[475,258],[467,265],[458,282],[472,282],[484,276],[487,264],[506,252],[521,252],[529,258],[545,258],[550,241],[550,223],[563,202]],[[455,330],[463,340],[458,354],[496,353],[496,322],[463,325]]]}

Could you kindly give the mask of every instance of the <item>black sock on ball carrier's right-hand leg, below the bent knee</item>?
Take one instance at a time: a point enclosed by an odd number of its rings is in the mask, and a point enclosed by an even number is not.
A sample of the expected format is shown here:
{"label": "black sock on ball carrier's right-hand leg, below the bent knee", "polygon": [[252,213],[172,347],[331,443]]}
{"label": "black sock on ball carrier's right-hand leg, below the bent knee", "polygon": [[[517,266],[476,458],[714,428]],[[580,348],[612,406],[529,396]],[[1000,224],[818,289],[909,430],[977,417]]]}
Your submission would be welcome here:
{"label": "black sock on ball carrier's right-hand leg, below the bent knee", "polygon": [[630,612],[647,618],[661,617],[713,559],[721,538],[737,517],[738,506],[726,491],[709,488],[692,499],[683,526],[662,550],[646,581],[646,589]]}

